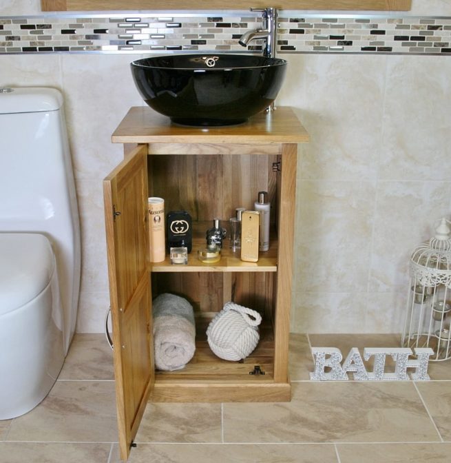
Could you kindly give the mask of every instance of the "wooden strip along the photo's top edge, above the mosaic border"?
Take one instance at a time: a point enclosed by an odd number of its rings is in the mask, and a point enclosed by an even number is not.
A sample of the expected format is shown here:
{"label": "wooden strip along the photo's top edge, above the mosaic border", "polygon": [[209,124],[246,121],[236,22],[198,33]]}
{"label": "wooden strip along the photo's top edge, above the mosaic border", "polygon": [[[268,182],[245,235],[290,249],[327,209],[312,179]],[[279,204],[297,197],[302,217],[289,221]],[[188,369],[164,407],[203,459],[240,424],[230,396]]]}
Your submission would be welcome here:
{"label": "wooden strip along the photo's top edge, above the mosaic border", "polygon": [[[271,3],[275,8],[286,10],[410,10],[412,0],[277,0]],[[255,8],[266,8],[266,0],[253,0]],[[242,0],[209,0],[209,9],[247,10]],[[189,10],[205,9],[204,0],[41,0],[43,11],[85,11],[85,10]]]}

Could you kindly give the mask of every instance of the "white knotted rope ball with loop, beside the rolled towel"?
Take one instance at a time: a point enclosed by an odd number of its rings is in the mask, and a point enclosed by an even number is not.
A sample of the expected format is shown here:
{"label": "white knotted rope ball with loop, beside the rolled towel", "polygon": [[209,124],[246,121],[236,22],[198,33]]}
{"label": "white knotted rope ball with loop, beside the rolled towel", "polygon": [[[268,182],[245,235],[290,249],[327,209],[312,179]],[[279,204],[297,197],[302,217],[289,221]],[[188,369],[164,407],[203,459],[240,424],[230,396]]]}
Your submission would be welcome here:
{"label": "white knotted rope ball with loop, beside the rolled towel", "polygon": [[210,349],[224,360],[242,360],[249,356],[260,340],[258,325],[262,316],[235,302],[227,302],[207,328]]}

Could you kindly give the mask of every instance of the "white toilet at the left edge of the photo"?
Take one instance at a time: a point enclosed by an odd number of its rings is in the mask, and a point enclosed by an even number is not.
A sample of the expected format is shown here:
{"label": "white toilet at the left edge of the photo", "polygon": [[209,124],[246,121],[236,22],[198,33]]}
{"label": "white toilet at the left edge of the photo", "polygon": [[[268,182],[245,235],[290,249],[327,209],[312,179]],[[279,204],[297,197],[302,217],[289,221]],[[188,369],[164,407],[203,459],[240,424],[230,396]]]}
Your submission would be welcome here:
{"label": "white toilet at the left edge of the photo", "polygon": [[75,331],[80,231],[63,99],[0,88],[0,420],[36,407]]}

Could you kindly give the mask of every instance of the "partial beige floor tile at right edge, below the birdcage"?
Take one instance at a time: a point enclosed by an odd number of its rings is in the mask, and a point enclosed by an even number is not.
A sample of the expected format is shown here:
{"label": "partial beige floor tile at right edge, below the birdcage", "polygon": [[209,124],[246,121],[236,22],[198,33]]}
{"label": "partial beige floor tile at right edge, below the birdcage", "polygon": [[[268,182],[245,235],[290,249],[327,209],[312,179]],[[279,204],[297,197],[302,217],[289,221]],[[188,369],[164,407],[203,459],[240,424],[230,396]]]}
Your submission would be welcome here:
{"label": "partial beige floor tile at right edge, below the birdcage", "polygon": [[451,382],[430,381],[416,384],[441,437],[451,441]]}

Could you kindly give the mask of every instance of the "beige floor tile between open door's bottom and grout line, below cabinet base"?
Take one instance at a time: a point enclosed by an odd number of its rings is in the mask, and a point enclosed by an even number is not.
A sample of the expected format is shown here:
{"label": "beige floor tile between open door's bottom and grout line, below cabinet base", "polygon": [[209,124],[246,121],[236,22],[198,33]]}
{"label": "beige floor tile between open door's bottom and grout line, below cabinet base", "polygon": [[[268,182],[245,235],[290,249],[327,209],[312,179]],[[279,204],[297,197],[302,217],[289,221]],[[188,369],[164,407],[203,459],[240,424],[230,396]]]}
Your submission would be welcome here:
{"label": "beige floor tile between open door's bottom and grout line, below cabinet base", "polygon": [[221,442],[221,404],[149,403],[135,442]]}

